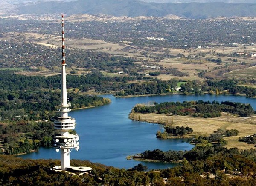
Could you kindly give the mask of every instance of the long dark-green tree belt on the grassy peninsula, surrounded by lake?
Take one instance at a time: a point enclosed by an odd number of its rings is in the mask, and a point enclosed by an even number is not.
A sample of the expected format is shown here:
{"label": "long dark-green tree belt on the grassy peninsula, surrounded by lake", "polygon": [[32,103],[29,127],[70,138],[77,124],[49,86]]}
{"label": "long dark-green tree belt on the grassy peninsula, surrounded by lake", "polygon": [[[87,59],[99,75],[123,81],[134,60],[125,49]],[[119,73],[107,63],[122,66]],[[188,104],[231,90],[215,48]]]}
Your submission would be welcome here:
{"label": "long dark-green tree belt on the grassy peninsula, surrounded by lake", "polygon": [[221,112],[228,112],[239,115],[240,117],[249,117],[254,114],[250,104],[233,103],[229,101],[184,101],[154,103],[154,105],[137,104],[133,112],[140,113],[157,113],[157,114],[174,114],[189,115],[192,117],[219,117]]}

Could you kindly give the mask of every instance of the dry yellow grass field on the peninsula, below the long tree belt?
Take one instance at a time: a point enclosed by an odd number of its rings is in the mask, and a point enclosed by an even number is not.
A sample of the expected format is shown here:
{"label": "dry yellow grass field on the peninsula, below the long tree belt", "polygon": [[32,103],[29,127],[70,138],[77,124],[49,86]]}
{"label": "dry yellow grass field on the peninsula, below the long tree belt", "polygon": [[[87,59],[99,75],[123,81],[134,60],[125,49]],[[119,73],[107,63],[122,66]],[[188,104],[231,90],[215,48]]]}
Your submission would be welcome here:
{"label": "dry yellow grass field on the peninsula, below the long tree belt", "polygon": [[[239,142],[239,137],[244,137],[256,133],[256,117],[235,117],[229,114],[222,114],[223,116],[217,118],[194,118],[189,116],[172,116],[163,114],[140,114],[131,113],[131,118],[134,120],[146,121],[149,123],[172,124],[173,126],[188,126],[194,132],[188,137],[198,135],[209,136],[217,129],[224,130],[237,129],[238,136],[224,137],[227,140],[227,148],[237,147],[239,149],[250,149],[254,145]],[[156,131],[157,132],[157,131]]]}

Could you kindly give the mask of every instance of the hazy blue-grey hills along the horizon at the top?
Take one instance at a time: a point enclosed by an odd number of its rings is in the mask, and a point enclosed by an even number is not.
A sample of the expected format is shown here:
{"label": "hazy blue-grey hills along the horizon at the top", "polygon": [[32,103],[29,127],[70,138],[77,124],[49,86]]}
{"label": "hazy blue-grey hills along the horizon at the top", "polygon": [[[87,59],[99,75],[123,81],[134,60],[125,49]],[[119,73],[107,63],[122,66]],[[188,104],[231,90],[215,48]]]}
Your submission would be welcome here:
{"label": "hazy blue-grey hills along the horizon at the top", "polygon": [[[2,7],[3,8],[3,7]],[[189,19],[210,17],[256,17],[256,3],[148,3],[136,0],[38,1],[15,5],[6,13],[15,14],[108,14],[115,17],[169,14]]]}

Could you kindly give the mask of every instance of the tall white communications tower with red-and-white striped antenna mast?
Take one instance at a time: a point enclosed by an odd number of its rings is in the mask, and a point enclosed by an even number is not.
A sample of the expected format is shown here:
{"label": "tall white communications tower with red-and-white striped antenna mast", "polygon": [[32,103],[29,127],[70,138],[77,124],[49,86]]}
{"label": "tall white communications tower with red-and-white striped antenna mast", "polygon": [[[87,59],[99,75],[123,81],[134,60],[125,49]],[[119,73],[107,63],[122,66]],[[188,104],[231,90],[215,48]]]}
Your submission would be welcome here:
{"label": "tall white communications tower with red-and-white striped antenna mast", "polygon": [[[52,137],[52,146],[56,151],[61,151],[61,167],[58,169],[73,169],[70,167],[70,152],[72,149],[79,150],[79,136],[70,134],[69,131],[75,129],[76,120],[68,115],[71,111],[71,104],[67,102],[67,81],[66,81],[66,61],[65,61],[65,45],[64,45],[64,17],[62,15],[62,63],[61,63],[61,104],[58,105],[60,116],[54,120],[55,135]],[[87,171],[89,171],[87,167]],[[83,167],[79,168],[80,170]],[[91,169],[91,168],[90,168]]]}

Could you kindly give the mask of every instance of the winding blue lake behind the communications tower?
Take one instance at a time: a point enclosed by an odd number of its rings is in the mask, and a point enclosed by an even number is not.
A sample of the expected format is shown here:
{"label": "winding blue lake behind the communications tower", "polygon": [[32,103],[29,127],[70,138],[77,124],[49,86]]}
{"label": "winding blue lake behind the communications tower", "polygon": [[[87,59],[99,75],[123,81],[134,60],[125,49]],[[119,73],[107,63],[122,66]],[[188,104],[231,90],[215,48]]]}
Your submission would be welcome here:
{"label": "winding blue lake behind the communications tower", "polygon": [[[166,95],[131,98],[109,97],[111,103],[90,109],[75,110],[69,113],[76,119],[76,132],[80,137],[80,150],[70,153],[71,159],[90,160],[118,168],[131,168],[142,163],[149,169],[163,169],[174,166],[172,163],[151,163],[126,160],[128,155],[134,155],[145,150],[190,150],[192,145],[182,139],[161,140],[156,138],[156,132],[163,126],[128,119],[128,114],[137,103],[157,103],[166,101],[232,101],[250,103],[256,108],[255,99],[241,96],[223,95]],[[39,152],[21,155],[32,159],[60,159],[60,152],[54,148],[40,148]]]}

